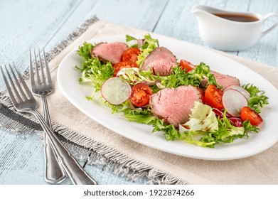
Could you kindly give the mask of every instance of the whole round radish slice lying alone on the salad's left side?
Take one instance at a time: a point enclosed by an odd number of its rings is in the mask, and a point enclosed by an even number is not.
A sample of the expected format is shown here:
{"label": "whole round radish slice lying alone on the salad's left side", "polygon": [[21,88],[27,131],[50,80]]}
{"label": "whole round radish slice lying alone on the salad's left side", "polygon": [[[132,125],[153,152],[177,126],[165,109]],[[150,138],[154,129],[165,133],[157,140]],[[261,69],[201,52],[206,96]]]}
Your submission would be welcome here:
{"label": "whole round radish slice lying alone on the salad's left side", "polygon": [[132,93],[132,87],[121,77],[110,77],[102,84],[102,97],[110,104],[122,104]]}

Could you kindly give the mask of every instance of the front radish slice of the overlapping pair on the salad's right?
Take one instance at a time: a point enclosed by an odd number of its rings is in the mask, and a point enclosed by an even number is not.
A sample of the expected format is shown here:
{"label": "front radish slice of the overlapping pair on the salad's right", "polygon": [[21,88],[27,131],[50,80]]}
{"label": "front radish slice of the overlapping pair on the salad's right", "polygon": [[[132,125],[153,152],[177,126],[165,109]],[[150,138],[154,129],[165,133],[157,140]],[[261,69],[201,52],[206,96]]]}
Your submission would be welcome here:
{"label": "front radish slice of the overlapping pair on the salad's right", "polygon": [[223,106],[233,117],[239,117],[242,107],[247,107],[248,101],[241,92],[233,89],[223,93]]}

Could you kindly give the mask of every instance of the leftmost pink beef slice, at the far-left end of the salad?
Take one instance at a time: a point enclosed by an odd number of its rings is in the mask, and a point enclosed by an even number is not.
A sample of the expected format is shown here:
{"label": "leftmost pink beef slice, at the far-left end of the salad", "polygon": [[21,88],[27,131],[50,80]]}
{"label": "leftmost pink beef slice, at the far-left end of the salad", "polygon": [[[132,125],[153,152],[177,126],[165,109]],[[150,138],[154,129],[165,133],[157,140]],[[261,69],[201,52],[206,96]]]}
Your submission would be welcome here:
{"label": "leftmost pink beef slice, at the far-left end of the salad", "polygon": [[102,61],[111,61],[112,64],[115,64],[121,61],[127,48],[128,46],[124,42],[99,43],[91,50],[91,55]]}

